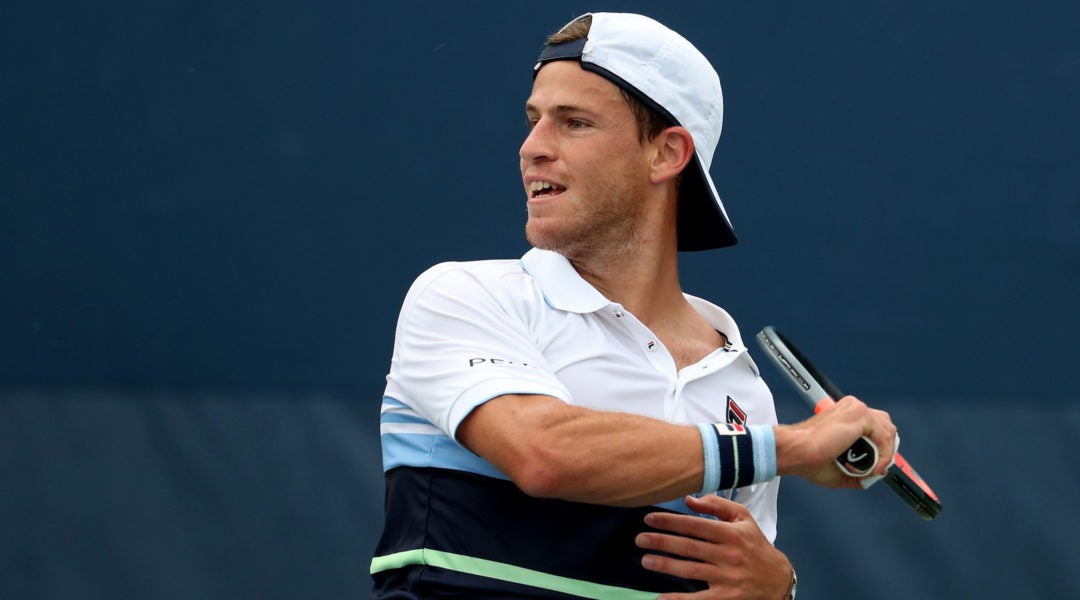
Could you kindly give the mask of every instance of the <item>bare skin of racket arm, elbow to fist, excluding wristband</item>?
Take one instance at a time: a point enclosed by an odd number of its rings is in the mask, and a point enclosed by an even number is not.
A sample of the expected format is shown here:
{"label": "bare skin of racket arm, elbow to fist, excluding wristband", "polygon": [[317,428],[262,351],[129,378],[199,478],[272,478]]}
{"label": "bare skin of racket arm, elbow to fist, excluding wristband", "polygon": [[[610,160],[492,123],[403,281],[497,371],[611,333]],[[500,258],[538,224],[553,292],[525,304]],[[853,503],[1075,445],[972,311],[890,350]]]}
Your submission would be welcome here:
{"label": "bare skin of racket arm, elbow to fist, excluding wristband", "polygon": [[[833,460],[860,435],[892,458],[889,415],[855,398],[797,425],[778,425],[780,475],[826,487],[859,487]],[[550,396],[504,395],[474,409],[457,439],[505,473],[525,493],[615,506],[646,506],[701,491],[704,452],[698,428],[648,417],[596,411]]]}

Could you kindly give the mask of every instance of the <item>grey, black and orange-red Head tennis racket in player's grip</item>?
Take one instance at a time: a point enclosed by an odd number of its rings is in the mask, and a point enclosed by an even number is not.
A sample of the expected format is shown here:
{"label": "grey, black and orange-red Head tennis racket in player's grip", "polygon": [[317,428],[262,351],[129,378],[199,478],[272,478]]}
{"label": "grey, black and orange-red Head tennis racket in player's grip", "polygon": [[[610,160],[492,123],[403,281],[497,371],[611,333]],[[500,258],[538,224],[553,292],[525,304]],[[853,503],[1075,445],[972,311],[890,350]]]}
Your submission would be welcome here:
{"label": "grey, black and orange-red Head tennis racket in player's grip", "polygon": [[[843,394],[819,371],[807,357],[773,327],[766,327],[757,335],[757,343],[772,364],[787,377],[799,395],[813,408],[814,413],[836,404]],[[868,437],[861,437],[836,459],[837,466],[852,477],[863,477],[863,488],[879,479],[892,489],[908,506],[926,520],[932,520],[942,510],[941,501],[915,468],[896,452],[883,477],[870,476],[877,463],[878,448]]]}

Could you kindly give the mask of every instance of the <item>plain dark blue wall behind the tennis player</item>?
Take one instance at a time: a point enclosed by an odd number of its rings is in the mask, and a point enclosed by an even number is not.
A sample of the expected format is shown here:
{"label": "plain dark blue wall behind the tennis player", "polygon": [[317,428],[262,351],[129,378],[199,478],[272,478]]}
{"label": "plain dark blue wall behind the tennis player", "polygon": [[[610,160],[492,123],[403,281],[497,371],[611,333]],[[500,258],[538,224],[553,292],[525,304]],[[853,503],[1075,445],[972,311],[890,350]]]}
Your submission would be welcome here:
{"label": "plain dark blue wall behind the tennis player", "polygon": [[612,9],[725,85],[742,242],[685,287],[890,410],[945,504],[785,481],[802,594],[1080,594],[1080,9],[669,4],[5,4],[0,597],[364,597],[401,298],[527,248],[529,68]]}

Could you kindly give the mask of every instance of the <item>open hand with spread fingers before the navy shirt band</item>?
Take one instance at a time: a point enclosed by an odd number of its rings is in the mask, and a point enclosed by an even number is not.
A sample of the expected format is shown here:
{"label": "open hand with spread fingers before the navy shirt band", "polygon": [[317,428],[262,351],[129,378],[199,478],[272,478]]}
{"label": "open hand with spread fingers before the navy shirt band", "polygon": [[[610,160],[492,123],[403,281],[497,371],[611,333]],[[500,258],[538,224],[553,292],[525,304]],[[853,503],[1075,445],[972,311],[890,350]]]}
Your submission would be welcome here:
{"label": "open hand with spread fingers before the navy shirt band", "polygon": [[642,558],[642,565],[658,573],[706,582],[708,589],[662,594],[658,600],[779,600],[787,594],[792,565],[765,537],[745,506],[718,495],[687,496],[686,504],[691,510],[720,520],[673,513],[646,515],[648,526],[672,534],[640,533],[636,538],[638,547],[688,560],[649,554]]}

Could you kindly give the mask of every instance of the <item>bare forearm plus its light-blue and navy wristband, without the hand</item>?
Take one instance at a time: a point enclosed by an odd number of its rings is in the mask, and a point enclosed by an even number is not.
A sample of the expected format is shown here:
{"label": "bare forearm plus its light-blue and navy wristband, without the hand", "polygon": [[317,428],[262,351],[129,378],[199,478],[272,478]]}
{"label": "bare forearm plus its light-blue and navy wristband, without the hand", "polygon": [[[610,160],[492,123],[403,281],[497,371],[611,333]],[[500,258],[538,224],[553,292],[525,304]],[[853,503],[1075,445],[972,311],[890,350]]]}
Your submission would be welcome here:
{"label": "bare forearm plus its light-blue and navy wristband, without the hand", "polygon": [[[545,396],[505,396],[477,408],[458,439],[530,495],[645,506],[700,492],[703,482],[713,491],[754,478],[750,437],[706,429]],[[757,471],[754,480],[762,480],[768,469]]]}

